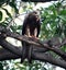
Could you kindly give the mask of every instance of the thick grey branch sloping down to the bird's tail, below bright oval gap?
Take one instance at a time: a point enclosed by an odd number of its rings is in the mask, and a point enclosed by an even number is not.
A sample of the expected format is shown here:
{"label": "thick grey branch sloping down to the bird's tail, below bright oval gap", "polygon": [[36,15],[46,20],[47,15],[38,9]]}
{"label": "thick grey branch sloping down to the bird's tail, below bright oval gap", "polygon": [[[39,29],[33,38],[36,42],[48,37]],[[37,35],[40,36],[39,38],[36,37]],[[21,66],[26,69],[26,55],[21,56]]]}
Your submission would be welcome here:
{"label": "thick grey branch sloping down to the bird's tail, below bright oval gap", "polygon": [[6,39],[0,39],[0,45],[1,45],[4,49],[13,52],[14,55],[21,56],[20,52],[21,52],[22,50],[19,49],[18,47],[11,45],[10,43],[8,43]]}

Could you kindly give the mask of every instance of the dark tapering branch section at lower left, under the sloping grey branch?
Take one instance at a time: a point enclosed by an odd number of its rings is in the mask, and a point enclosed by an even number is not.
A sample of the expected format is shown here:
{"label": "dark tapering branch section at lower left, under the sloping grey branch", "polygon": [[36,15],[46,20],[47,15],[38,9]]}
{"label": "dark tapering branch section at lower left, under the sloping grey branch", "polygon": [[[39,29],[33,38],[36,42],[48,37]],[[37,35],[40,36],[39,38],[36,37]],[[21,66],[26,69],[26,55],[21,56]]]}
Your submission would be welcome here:
{"label": "dark tapering branch section at lower left, under the sloping grey branch", "polygon": [[18,59],[18,58],[20,58],[20,56],[12,54],[9,50],[6,50],[4,48],[0,48],[0,61]]}

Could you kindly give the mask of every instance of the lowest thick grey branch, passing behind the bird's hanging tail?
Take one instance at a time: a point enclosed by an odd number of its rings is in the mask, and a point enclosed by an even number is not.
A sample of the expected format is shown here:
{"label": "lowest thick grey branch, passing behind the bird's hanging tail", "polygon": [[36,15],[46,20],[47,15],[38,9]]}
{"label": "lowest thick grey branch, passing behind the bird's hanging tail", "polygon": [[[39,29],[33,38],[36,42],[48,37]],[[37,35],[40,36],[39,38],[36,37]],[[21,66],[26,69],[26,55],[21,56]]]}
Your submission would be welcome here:
{"label": "lowest thick grey branch, passing behind the bird's hanging tail", "polygon": [[[19,49],[21,49],[20,47],[18,47]],[[21,52],[19,52],[21,55]],[[11,59],[18,59],[21,58],[21,56],[16,56],[3,48],[0,48],[0,61],[2,60],[11,60]],[[41,60],[41,61],[47,61],[52,65],[62,67],[66,69],[66,61],[61,60],[61,59],[55,59],[53,58],[51,55],[46,55],[44,52],[35,52],[34,50],[32,51],[32,59],[33,60]]]}

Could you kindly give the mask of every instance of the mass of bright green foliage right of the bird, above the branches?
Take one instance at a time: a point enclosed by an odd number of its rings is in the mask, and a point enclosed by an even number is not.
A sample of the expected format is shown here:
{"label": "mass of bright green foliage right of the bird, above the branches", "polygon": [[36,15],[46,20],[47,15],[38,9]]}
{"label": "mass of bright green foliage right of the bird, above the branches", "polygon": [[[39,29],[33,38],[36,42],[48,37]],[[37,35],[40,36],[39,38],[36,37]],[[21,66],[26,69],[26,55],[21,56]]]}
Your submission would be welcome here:
{"label": "mass of bright green foliage right of the bird, above the branches", "polygon": [[53,36],[66,37],[66,7],[63,2],[42,8],[42,38],[51,38]]}

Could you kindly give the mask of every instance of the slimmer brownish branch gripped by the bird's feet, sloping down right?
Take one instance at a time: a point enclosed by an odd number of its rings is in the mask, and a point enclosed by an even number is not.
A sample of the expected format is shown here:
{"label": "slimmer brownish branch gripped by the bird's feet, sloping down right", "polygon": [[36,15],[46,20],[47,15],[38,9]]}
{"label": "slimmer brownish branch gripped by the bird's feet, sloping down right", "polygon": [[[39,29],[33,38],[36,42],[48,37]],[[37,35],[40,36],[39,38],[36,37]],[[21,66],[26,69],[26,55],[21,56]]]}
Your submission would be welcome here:
{"label": "slimmer brownish branch gripped by the bird's feet, sloping down right", "polygon": [[[4,35],[7,36],[10,36],[10,37],[13,37],[13,38],[16,38],[19,40],[23,40],[23,42],[26,42],[29,44],[33,44],[33,45],[36,45],[37,47],[44,47],[48,50],[52,50],[54,52],[56,52],[57,55],[59,55],[64,60],[66,60],[66,52],[64,52],[63,50],[61,50],[59,48],[56,48],[55,46],[54,47],[51,47],[47,43],[50,40],[47,40],[46,43],[43,43],[42,40],[40,39],[34,39],[34,38],[30,38],[30,37],[26,37],[26,36],[22,36],[22,35],[19,35],[19,34],[15,34],[15,33],[12,33],[12,32],[7,32]],[[59,45],[61,46],[61,45]]]}

